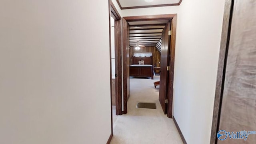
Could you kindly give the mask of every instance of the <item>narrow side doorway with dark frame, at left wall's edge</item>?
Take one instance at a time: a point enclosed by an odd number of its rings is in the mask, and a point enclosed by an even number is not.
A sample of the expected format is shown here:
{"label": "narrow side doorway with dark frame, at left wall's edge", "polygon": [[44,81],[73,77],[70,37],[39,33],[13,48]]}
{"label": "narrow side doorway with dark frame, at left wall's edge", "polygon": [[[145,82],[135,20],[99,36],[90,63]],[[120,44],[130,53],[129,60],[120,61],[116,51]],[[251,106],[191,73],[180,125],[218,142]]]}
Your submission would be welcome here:
{"label": "narrow side doorway with dark frame, at left wall's edge", "polygon": [[111,101],[111,136],[113,123],[122,115],[122,32],[121,16],[112,1],[109,1],[109,37],[110,37],[110,101]]}

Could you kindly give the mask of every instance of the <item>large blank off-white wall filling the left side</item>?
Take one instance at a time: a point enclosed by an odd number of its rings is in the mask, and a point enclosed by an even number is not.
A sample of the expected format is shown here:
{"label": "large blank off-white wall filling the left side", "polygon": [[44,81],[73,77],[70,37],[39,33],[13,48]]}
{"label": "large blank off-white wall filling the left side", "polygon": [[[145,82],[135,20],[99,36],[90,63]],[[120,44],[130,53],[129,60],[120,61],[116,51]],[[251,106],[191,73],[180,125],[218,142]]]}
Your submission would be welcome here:
{"label": "large blank off-white wall filling the left side", "polygon": [[0,1],[0,143],[104,144],[108,1]]}

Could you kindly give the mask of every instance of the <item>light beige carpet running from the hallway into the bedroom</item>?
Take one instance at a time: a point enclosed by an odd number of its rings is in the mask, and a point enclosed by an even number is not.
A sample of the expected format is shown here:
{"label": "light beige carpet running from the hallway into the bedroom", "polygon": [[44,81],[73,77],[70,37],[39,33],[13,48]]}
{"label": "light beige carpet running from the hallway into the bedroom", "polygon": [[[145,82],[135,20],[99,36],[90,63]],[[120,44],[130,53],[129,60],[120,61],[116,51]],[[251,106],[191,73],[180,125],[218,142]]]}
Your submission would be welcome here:
{"label": "light beige carpet running from the hallway into the bedroom", "polygon": [[[159,76],[130,78],[128,113],[116,119],[111,144],[183,144],[173,120],[164,115],[155,81]],[[136,108],[137,102],[156,103],[156,109]]]}

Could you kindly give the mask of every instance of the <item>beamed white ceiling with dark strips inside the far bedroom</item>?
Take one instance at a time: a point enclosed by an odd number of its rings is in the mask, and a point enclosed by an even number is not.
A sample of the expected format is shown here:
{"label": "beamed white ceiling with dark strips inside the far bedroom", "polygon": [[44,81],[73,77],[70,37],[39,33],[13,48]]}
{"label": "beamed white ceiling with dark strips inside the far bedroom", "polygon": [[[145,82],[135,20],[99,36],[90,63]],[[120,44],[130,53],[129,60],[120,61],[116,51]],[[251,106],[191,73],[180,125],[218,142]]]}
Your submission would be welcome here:
{"label": "beamed white ceiling with dark strips inside the far bedroom", "polygon": [[168,20],[128,22],[130,25],[130,46],[158,46],[161,50],[162,31]]}

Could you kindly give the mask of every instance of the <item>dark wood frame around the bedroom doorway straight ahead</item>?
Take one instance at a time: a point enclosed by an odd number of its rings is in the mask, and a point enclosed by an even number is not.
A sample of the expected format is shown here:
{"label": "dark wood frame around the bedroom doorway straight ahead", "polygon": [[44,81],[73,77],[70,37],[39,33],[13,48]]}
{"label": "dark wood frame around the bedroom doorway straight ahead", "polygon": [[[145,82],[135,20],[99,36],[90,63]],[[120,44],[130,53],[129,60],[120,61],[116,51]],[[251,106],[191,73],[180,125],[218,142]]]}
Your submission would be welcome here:
{"label": "dark wood frame around the bedroom doorway straight ahead", "polygon": [[[122,40],[123,40],[123,94],[124,94],[124,111],[123,114],[127,113],[127,67],[128,64],[126,60],[127,56],[127,26],[128,22],[131,21],[146,21],[146,20],[172,20],[172,35],[171,35],[171,44],[170,44],[170,73],[169,73],[169,86],[173,87],[173,77],[174,77],[174,56],[175,56],[175,42],[176,42],[176,26],[177,26],[177,14],[160,14],[160,15],[150,15],[150,16],[128,16],[122,18]],[[129,75],[128,75],[129,77]],[[173,102],[173,88],[168,89],[168,114],[169,118],[172,118],[172,102]]]}

